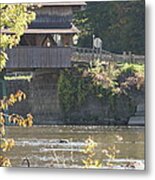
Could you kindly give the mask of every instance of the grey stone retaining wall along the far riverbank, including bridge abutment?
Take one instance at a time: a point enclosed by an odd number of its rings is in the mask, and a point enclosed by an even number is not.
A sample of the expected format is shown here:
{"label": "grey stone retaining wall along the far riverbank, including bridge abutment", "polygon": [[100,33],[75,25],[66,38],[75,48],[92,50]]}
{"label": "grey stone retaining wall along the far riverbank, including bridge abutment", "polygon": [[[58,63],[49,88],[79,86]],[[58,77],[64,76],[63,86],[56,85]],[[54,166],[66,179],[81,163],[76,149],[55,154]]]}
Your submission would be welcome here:
{"label": "grey stone retaining wall along the far riverbank, including bridge abutment", "polygon": [[[37,70],[30,82],[25,80],[7,81],[8,94],[23,90],[27,99],[9,108],[9,113],[25,116],[32,113],[34,124],[78,124],[78,125],[130,125],[134,124],[131,117],[135,116],[136,107],[144,104],[144,92],[134,94],[130,100],[121,97],[111,103],[108,98],[100,101],[89,97],[85,104],[68,117],[62,113],[57,82],[60,70]],[[143,115],[142,115],[143,116]],[[144,118],[144,116],[143,116]]]}

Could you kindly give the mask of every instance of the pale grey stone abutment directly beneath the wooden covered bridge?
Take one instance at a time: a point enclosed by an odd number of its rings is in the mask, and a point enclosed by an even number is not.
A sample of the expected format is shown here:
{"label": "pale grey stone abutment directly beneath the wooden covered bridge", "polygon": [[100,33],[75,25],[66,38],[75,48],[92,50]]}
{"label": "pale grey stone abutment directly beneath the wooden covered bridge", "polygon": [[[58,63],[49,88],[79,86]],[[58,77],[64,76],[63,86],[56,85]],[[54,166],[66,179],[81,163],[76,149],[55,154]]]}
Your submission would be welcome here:
{"label": "pale grey stone abutment directly beneath the wooden covered bridge", "polygon": [[36,124],[53,124],[61,119],[57,81],[59,71],[36,71],[30,84],[32,114]]}

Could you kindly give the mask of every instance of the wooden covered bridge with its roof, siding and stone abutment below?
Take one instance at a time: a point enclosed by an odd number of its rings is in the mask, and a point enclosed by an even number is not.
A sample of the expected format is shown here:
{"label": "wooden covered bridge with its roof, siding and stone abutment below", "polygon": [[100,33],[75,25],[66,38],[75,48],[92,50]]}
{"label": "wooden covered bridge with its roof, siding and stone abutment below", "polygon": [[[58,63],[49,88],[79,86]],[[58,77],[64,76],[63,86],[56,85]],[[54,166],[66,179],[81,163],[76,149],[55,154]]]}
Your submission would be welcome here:
{"label": "wooden covered bridge with its roof, siding and stone abutment below", "polygon": [[[27,99],[9,113],[32,113],[35,124],[61,119],[57,82],[60,70],[71,67],[73,36],[79,32],[72,22],[73,14],[85,5],[82,1],[52,2],[35,10],[36,20],[25,30],[20,44],[7,50],[7,93],[20,89],[27,94]],[[1,33],[11,32],[4,29]],[[29,76],[29,81],[17,78],[20,76]]]}

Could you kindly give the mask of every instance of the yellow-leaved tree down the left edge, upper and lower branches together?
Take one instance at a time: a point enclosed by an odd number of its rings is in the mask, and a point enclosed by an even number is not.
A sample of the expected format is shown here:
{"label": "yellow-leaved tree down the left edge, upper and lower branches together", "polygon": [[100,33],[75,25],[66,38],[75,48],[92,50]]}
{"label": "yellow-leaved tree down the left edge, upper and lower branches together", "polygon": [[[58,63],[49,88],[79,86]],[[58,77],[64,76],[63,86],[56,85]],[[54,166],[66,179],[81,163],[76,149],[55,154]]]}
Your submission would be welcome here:
{"label": "yellow-leaved tree down the left edge, upper and lower branches together", "polygon": [[[20,37],[24,34],[28,24],[35,19],[33,8],[32,4],[0,4],[0,73],[5,68],[6,60],[8,60],[6,49],[19,44]],[[8,29],[11,33],[2,33],[4,29]],[[19,90],[15,94],[10,94],[9,97],[3,97],[0,100],[0,166],[11,166],[10,160],[3,153],[15,145],[13,139],[4,138],[6,120],[19,126],[32,126],[33,117],[31,114],[28,114],[26,118],[18,114],[5,114],[8,106],[13,106],[14,103],[25,98],[25,93]]]}

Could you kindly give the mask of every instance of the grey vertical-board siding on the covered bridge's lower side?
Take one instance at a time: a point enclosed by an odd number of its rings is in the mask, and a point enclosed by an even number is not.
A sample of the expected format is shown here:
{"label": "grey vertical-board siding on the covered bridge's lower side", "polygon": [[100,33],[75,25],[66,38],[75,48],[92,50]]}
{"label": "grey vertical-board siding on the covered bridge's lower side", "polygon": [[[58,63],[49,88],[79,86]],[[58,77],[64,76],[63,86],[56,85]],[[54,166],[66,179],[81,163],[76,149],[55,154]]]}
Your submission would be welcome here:
{"label": "grey vertical-board siding on the covered bridge's lower side", "polygon": [[6,68],[63,68],[71,66],[71,48],[17,47],[7,50]]}

